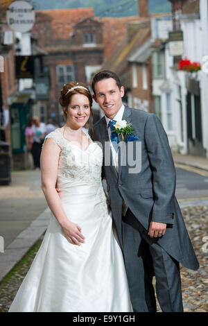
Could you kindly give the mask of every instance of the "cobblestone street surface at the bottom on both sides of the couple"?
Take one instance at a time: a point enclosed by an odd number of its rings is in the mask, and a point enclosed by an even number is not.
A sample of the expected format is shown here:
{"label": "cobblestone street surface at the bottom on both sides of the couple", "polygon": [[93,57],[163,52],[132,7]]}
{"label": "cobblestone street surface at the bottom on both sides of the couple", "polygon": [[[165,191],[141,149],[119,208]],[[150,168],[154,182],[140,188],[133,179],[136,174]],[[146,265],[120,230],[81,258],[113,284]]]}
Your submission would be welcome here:
{"label": "cobblestone street surface at the bottom on both sides of the couple", "polygon": [[[207,251],[206,243],[202,240],[208,236],[208,207],[203,205],[183,208],[182,214],[200,262],[198,271],[191,271],[181,266],[184,312],[208,312],[208,252],[204,252]],[[41,242],[42,238],[1,282],[1,312],[8,311]],[[205,248],[204,251],[202,246]],[[157,311],[161,311],[159,305]]]}

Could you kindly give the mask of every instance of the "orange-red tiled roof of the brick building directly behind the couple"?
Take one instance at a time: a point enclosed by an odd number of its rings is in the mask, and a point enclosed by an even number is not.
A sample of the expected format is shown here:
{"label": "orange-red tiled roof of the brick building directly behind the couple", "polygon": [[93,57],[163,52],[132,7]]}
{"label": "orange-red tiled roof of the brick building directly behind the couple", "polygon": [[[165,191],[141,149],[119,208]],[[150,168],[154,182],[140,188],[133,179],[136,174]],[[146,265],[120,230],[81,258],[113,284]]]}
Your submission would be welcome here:
{"label": "orange-red tiled roof of the brick building directly behind the couple", "polygon": [[146,18],[132,17],[94,17],[94,8],[36,10],[33,33],[37,36],[38,44],[50,52],[69,51],[71,35],[75,24],[83,19],[93,17],[103,23],[104,56],[109,58],[123,37],[127,34],[127,24],[135,20],[144,21]]}

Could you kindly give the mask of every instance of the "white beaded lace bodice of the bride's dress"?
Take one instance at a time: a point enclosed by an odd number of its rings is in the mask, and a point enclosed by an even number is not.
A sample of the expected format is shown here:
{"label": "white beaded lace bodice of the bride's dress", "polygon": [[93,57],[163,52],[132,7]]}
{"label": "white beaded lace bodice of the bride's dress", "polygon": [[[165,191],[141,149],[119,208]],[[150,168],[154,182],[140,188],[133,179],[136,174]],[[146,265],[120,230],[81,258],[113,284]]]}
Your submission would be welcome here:
{"label": "white beaded lace bodice of the bride's dress", "polygon": [[58,183],[64,185],[94,185],[94,182],[101,182],[101,168],[103,164],[103,152],[98,144],[89,137],[87,129],[83,132],[90,139],[86,150],[80,146],[67,141],[56,129],[49,133],[46,138],[53,138],[55,144],[60,147],[60,158],[58,164]]}

